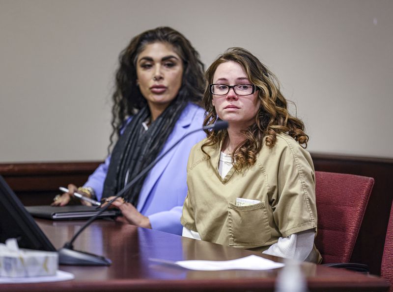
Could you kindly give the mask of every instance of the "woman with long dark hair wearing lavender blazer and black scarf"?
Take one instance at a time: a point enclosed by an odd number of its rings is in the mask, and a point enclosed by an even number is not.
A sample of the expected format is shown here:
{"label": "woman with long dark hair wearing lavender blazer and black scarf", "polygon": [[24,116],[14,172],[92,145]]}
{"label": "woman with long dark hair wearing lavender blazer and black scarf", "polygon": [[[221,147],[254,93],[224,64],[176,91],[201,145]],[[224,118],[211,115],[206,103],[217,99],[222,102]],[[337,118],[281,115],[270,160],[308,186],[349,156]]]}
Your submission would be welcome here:
{"label": "woman with long dark hair wearing lavender blazer and black scarf", "polygon": [[[69,192],[53,205],[67,204],[77,191],[97,200],[111,199],[161,153],[201,129],[203,64],[182,34],[169,27],[145,31],[131,40],[119,61],[110,146],[113,137],[117,141],[112,153],[84,186],[68,185]],[[204,137],[203,131],[184,137],[124,199],[114,201],[123,215],[118,220],[181,234],[188,156]]]}

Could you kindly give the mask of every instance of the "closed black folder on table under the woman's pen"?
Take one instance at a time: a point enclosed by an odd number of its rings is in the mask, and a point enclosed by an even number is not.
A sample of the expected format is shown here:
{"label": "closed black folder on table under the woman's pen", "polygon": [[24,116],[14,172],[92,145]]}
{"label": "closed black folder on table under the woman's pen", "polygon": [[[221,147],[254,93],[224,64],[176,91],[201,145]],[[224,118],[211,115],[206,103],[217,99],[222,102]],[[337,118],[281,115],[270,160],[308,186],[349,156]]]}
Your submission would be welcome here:
{"label": "closed black folder on table under the woman's pen", "polygon": [[[96,215],[100,209],[94,206],[70,205],[63,207],[56,206],[27,206],[25,207],[33,217],[52,219],[52,220],[69,220],[69,219],[89,219]],[[120,215],[117,209],[105,210],[98,218],[116,217]]]}

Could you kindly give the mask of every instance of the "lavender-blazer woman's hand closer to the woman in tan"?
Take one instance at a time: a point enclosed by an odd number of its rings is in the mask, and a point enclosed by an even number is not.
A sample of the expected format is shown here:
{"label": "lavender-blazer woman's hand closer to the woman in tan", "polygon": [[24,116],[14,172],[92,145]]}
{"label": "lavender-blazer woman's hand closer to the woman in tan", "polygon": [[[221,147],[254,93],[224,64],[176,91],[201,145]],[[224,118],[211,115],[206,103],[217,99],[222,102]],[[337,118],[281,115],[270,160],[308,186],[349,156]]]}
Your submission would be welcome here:
{"label": "lavender-blazer woman's hand closer to the woman in tan", "polygon": [[[114,196],[110,196],[106,199],[106,201],[110,201],[113,198]],[[117,198],[112,202],[111,207],[116,207],[121,211],[121,214],[123,214],[123,217],[116,218],[117,221],[151,229],[149,218],[140,214],[131,203],[125,202],[123,198]]]}

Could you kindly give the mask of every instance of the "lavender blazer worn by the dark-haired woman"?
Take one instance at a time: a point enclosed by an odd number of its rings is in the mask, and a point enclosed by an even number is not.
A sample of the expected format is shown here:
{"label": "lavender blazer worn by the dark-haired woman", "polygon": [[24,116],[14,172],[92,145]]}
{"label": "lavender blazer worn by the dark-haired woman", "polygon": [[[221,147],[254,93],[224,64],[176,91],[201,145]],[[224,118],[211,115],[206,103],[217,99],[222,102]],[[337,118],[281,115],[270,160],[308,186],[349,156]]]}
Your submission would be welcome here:
{"label": "lavender blazer worn by the dark-haired woman", "polygon": [[[201,129],[203,118],[204,110],[189,103],[181,113],[161,153],[188,132]],[[187,195],[188,156],[192,146],[205,137],[202,130],[186,137],[170,150],[146,176],[140,191],[137,209],[142,215],[149,217],[153,229],[181,235],[183,226],[180,224],[180,217]],[[84,187],[94,189],[98,200],[102,196],[110,161],[111,156],[108,156],[84,184]]]}

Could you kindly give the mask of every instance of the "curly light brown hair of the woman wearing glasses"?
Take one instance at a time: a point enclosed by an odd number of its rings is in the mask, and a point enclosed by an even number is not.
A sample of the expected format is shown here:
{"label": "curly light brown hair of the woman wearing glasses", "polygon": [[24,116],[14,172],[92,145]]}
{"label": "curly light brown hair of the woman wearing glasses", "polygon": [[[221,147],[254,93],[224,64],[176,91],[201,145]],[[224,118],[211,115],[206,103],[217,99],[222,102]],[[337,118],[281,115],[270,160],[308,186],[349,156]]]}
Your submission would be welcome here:
{"label": "curly light brown hair of the woman wearing glasses", "polygon": [[[235,168],[241,170],[244,167],[252,166],[262,147],[263,138],[266,138],[266,146],[272,148],[276,144],[277,134],[280,133],[287,133],[302,147],[306,148],[309,136],[304,132],[304,123],[289,114],[287,100],[281,94],[277,77],[250,51],[242,48],[227,49],[207,69],[205,73],[207,84],[213,83],[217,67],[228,61],[237,62],[244,68],[249,80],[259,89],[257,92],[261,101],[259,110],[255,115],[255,122],[242,131],[245,140],[232,153],[232,159],[236,161]],[[206,111],[204,126],[213,124],[219,119],[212,98],[209,86],[206,86],[202,99]],[[205,132],[207,141],[201,146],[201,150],[209,156],[204,148],[223,141],[227,131],[205,130]]]}

